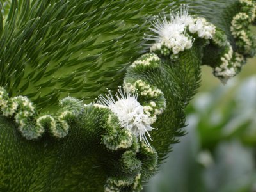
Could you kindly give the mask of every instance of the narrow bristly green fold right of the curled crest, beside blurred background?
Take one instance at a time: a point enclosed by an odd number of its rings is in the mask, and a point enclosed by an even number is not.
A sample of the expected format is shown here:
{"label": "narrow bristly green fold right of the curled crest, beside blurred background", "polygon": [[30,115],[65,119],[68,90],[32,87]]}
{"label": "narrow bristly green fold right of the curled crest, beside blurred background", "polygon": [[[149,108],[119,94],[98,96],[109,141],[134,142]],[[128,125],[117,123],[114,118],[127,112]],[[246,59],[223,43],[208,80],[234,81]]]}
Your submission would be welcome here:
{"label": "narrow bristly green fold right of the curled crest, beside blurred background", "polygon": [[161,68],[153,70],[127,71],[127,79],[145,79],[163,90],[166,98],[166,110],[153,124],[153,127],[159,127],[159,131],[152,132],[152,137],[156,138],[153,146],[158,152],[160,161],[167,154],[170,143],[177,142],[174,136],[184,134],[184,131],[179,129],[185,126],[184,108],[198,88],[202,44],[200,42],[194,44],[192,49],[181,54],[179,61],[163,63]]}

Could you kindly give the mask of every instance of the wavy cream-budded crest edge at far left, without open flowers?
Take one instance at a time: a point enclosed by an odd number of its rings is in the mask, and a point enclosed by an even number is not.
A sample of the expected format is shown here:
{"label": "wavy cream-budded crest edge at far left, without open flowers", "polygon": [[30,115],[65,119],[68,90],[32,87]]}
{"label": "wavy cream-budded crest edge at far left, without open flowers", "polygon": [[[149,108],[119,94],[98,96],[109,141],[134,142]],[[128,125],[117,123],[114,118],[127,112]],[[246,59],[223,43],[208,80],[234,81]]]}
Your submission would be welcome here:
{"label": "wavy cream-budded crest edge at far left, without open flowers", "polygon": [[14,117],[21,134],[28,140],[40,138],[46,129],[52,136],[63,138],[68,134],[70,123],[83,112],[84,104],[78,99],[66,97],[60,100],[60,109],[54,117],[40,115],[28,97],[17,96],[9,99],[4,88],[0,88],[1,113]]}

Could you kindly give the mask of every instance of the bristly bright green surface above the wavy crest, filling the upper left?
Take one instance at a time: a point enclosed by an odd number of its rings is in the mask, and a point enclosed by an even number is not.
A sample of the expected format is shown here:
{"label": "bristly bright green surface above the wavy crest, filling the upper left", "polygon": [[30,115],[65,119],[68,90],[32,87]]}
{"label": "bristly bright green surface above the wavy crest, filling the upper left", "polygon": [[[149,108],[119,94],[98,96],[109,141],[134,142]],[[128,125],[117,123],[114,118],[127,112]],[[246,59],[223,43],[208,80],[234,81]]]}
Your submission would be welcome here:
{"label": "bristly bright green surface above the wavy crest, filling the upper left", "polygon": [[236,1],[13,1],[2,26],[0,85],[44,109],[67,95],[91,102],[122,84],[125,68],[147,51],[150,15],[181,3],[230,33]]}

